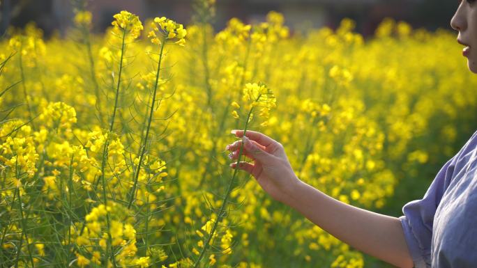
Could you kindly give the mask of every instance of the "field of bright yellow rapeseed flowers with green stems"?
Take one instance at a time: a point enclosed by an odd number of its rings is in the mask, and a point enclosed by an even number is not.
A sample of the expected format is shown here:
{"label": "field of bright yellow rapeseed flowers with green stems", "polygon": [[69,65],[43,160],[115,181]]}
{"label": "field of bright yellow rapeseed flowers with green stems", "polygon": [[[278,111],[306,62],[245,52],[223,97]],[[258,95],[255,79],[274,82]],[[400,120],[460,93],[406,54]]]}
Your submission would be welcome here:
{"label": "field of bright yellow rapeseed flowers with green stems", "polygon": [[383,210],[414,198],[404,183],[423,195],[476,128],[448,31],[386,19],[365,40],[344,19],[304,35],[275,12],[218,33],[204,14],[123,11],[103,36],[87,11],[74,22],[0,40],[2,267],[378,265],[229,168],[230,131],[272,136],[298,178]]}

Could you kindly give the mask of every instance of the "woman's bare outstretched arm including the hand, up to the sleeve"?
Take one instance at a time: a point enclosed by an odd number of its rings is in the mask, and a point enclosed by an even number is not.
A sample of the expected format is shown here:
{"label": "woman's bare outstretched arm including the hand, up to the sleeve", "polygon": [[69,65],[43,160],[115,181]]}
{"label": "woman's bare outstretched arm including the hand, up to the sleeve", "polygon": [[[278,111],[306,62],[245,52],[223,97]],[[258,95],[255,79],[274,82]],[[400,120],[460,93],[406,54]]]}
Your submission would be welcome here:
{"label": "woman's bare outstretched arm including the hand, up to the sleeve", "polygon": [[259,132],[232,132],[242,141],[227,145],[231,159],[237,159],[242,144],[247,157],[237,166],[253,175],[272,198],[293,207],[317,226],[354,248],[398,267],[413,267],[400,220],[362,210],[335,200],[302,182],[290,165],[283,146]]}

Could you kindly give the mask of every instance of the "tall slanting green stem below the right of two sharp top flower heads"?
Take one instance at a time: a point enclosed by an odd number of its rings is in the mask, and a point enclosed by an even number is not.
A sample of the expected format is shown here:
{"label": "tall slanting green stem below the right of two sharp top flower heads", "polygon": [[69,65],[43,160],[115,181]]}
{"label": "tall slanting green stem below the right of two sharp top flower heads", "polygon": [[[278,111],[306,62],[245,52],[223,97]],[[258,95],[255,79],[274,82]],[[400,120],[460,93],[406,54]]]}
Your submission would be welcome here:
{"label": "tall slanting green stem below the right of two sharp top flower heads", "polygon": [[144,153],[146,152],[146,145],[147,141],[149,138],[149,130],[151,129],[151,123],[152,123],[152,118],[153,118],[153,113],[154,113],[154,106],[156,105],[156,93],[158,90],[158,84],[159,84],[159,78],[160,78],[160,63],[162,62],[162,53],[164,52],[164,47],[165,47],[165,37],[162,39],[161,45],[160,45],[160,53],[159,53],[159,61],[158,61],[158,70],[156,72],[156,82],[154,83],[154,92],[153,92],[153,98],[151,101],[151,107],[149,107],[149,119],[147,122],[147,127],[146,127],[146,135],[144,135],[144,139],[142,141],[141,145],[141,151],[139,153],[139,163],[137,164],[136,168],[136,173],[135,173],[135,178],[134,178],[134,185],[132,186],[131,192],[130,192],[130,197],[129,197],[129,202],[128,202],[128,209],[132,205],[132,201],[134,201],[135,196],[136,196],[136,188],[137,188],[137,181],[139,180],[139,171],[141,171],[141,165],[142,165],[142,160],[144,159]]}

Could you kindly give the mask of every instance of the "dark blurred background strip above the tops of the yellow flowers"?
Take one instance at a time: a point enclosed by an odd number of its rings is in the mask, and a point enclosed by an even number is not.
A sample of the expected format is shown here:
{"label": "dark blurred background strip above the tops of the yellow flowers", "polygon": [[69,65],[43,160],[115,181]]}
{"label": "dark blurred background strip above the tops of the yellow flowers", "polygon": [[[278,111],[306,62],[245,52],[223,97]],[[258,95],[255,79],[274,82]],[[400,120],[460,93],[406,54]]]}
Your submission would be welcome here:
{"label": "dark blurred background strip above the tops of the yellow flowers", "polygon": [[[0,0],[0,34],[8,26],[22,27],[34,21],[50,36],[58,31],[64,36],[70,26],[75,1],[71,0]],[[101,32],[120,10],[147,17],[166,16],[180,22],[190,22],[192,0],[91,0],[87,8],[93,13],[94,31]],[[266,13],[276,10],[285,15],[292,30],[329,26],[335,29],[340,20],[356,21],[356,31],[363,36],[374,33],[384,17],[409,22],[414,28],[450,29],[450,19],[457,1],[449,0],[217,0],[216,30],[225,27],[232,17],[244,22],[263,21]]]}

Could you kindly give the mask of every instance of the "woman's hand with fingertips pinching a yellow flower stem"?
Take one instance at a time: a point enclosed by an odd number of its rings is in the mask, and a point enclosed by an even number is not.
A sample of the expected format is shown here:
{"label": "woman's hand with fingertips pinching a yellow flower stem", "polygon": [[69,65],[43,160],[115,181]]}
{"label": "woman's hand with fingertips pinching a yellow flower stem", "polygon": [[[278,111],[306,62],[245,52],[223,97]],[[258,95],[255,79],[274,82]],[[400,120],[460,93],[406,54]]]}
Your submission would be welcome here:
{"label": "woman's hand with fingertips pinching a yellow flower stem", "polygon": [[[232,134],[242,138],[227,145],[226,150],[231,151],[230,159],[239,157],[239,150],[244,144],[242,155],[253,159],[253,164],[246,161],[239,162],[239,169],[250,173],[259,185],[275,200],[282,203],[289,198],[300,180],[296,177],[283,146],[262,133],[247,130],[232,130]],[[236,161],[230,164],[236,167]]]}

